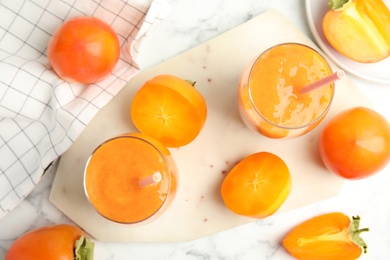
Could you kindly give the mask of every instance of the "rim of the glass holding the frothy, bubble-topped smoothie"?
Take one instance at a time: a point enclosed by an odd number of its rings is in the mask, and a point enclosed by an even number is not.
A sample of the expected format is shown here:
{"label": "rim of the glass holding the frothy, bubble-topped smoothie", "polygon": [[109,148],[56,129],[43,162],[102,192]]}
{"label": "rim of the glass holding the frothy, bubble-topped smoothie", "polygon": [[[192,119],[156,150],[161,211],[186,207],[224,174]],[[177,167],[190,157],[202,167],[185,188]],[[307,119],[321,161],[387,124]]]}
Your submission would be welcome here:
{"label": "rim of the glass holding the frothy, bubble-topped smoothie", "polygon": [[333,69],[332,69],[332,66],[329,64],[329,62],[327,61],[327,59],[324,57],[323,54],[321,54],[319,51],[315,50],[314,48],[306,45],[306,44],[303,44],[303,43],[298,43],[298,42],[284,42],[284,43],[279,43],[279,44],[276,44],[276,45],[273,45],[267,49],[265,49],[263,52],[261,52],[255,59],[255,61],[252,63],[251,65],[251,68],[250,68],[250,71],[249,71],[249,74],[248,74],[248,79],[246,81],[247,83],[247,86],[248,86],[248,96],[249,96],[249,100],[251,102],[251,105],[252,107],[255,109],[256,111],[256,114],[259,115],[264,121],[266,121],[267,123],[271,124],[272,126],[275,126],[275,127],[278,127],[278,128],[281,128],[281,129],[285,129],[285,130],[298,130],[298,129],[302,129],[302,128],[306,128],[306,127],[309,127],[311,125],[314,125],[316,124],[318,121],[320,121],[327,113],[328,111],[330,110],[330,107],[331,107],[331,104],[333,102],[333,98],[334,98],[334,95],[335,95],[335,82],[331,83],[332,85],[332,94],[331,94],[331,97],[330,97],[330,100],[329,100],[329,104],[328,106],[326,107],[326,109],[324,109],[324,111],[319,115],[317,116],[314,120],[311,120],[310,122],[304,124],[304,125],[301,125],[301,126],[284,126],[284,125],[279,125],[279,124],[276,124],[274,122],[271,122],[268,118],[266,118],[260,111],[259,109],[257,108],[254,100],[253,100],[253,97],[252,97],[252,92],[251,92],[251,84],[250,84],[250,79],[251,79],[251,76],[252,76],[252,72],[253,72],[253,67],[257,64],[257,62],[259,61],[259,59],[266,53],[268,53],[269,51],[271,51],[272,49],[274,48],[277,48],[277,47],[280,47],[280,46],[285,46],[285,45],[298,45],[298,46],[302,46],[302,47],[305,47],[315,53],[317,53],[324,61],[325,61],[325,64],[326,66],[329,68],[330,70],[330,74],[333,73]]}

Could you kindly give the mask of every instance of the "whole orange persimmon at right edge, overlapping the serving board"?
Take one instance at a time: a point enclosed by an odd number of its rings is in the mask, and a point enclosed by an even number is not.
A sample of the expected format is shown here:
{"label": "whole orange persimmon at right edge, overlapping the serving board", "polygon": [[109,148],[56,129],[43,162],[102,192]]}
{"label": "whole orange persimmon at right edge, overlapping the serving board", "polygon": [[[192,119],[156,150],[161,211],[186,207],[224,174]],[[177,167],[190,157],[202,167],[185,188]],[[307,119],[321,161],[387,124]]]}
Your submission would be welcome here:
{"label": "whole orange persimmon at right edge, overlapping the serving board", "polygon": [[350,108],[325,125],[319,151],[331,172],[347,179],[371,176],[390,161],[390,125],[370,108]]}

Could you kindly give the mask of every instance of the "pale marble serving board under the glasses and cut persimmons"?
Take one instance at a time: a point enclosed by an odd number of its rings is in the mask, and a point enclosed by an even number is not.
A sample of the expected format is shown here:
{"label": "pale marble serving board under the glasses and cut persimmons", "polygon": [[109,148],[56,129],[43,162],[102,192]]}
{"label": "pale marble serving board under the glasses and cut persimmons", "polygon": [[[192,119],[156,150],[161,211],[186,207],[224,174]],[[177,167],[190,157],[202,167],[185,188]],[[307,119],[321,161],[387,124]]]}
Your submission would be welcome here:
{"label": "pale marble serving board under the glasses and cut persimmons", "polygon": [[[140,72],[98,112],[80,137],[61,156],[50,201],[99,241],[181,242],[256,221],[236,215],[223,204],[220,186],[232,167],[260,151],[280,156],[292,175],[292,191],[275,213],[336,196],[343,180],[328,172],[317,152],[319,133],[329,118],[369,101],[347,78],[337,84],[332,108],[314,131],[291,140],[274,140],[251,132],[236,107],[236,88],[245,65],[266,48],[282,42],[316,45],[277,10],[269,10],[222,35],[151,69]],[[196,81],[208,106],[199,136],[190,144],[170,149],[179,171],[177,196],[168,211],[143,226],[112,223],[98,215],[83,191],[88,156],[102,141],[137,131],[129,117],[133,96],[148,79],[173,74]]]}

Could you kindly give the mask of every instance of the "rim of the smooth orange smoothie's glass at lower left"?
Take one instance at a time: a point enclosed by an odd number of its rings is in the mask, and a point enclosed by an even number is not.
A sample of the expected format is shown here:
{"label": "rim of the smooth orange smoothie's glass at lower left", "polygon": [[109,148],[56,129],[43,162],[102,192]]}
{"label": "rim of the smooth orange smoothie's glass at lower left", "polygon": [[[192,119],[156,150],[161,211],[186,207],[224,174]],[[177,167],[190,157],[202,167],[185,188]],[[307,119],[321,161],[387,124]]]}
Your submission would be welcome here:
{"label": "rim of the smooth orange smoothie's glass at lower left", "polygon": [[[117,139],[137,139],[139,141],[142,141],[142,142],[145,142],[147,143],[148,145],[150,145],[151,147],[154,148],[154,150],[156,150],[159,155],[161,156],[161,158],[163,159],[164,161],[164,165],[166,165],[167,167],[167,177],[168,177],[168,186],[167,186],[167,189],[166,189],[166,193],[167,195],[165,196],[165,198],[162,200],[161,202],[161,205],[150,215],[148,216],[147,218],[144,218],[142,220],[138,220],[138,221],[118,221],[118,220],[115,220],[115,219],[112,219],[108,216],[105,216],[102,212],[100,212],[96,207],[95,205],[93,205],[91,199],[90,199],[90,196],[88,194],[88,190],[87,190],[87,184],[86,184],[86,176],[87,176],[87,169],[88,169],[88,165],[93,157],[93,155],[101,148],[103,147],[105,144],[109,143],[109,142],[112,142],[112,141],[115,141]],[[133,224],[140,224],[140,223],[143,223],[143,222],[146,222],[147,220],[150,220],[151,218],[153,218],[154,216],[156,216],[156,214],[158,214],[158,212],[160,212],[160,210],[163,209],[163,207],[165,206],[165,204],[167,203],[167,200],[168,200],[168,197],[169,197],[169,192],[172,188],[172,166],[171,164],[169,163],[169,161],[167,160],[166,158],[166,155],[163,154],[160,149],[154,145],[153,143],[151,143],[150,141],[142,138],[141,136],[136,136],[136,135],[132,135],[132,134],[123,134],[123,135],[118,135],[118,136],[115,136],[115,137],[111,137],[105,141],[103,141],[102,143],[100,143],[93,151],[92,153],[89,155],[88,159],[87,159],[87,162],[85,164],[85,167],[84,167],[84,174],[83,174],[83,187],[84,187],[84,193],[85,193],[85,196],[88,200],[88,203],[92,206],[92,208],[100,215],[102,216],[103,218],[109,220],[109,221],[112,221],[112,222],[115,222],[115,223],[119,223],[119,224],[126,224],[126,225],[133,225]]]}

